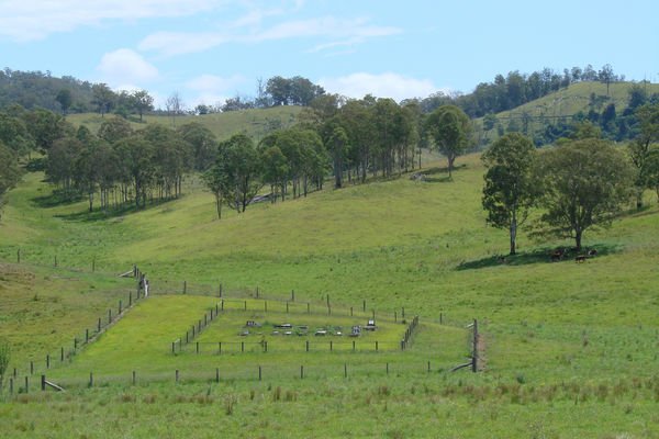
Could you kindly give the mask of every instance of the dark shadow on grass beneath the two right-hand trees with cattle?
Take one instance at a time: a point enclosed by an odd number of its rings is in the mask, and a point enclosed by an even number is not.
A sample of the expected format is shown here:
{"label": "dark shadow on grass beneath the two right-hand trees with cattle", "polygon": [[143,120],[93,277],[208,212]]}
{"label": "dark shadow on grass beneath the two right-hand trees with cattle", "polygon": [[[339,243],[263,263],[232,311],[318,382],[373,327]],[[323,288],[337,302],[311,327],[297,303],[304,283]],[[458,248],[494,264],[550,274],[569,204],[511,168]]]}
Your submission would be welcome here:
{"label": "dark shadow on grass beneath the two right-hand trees with cattle", "polygon": [[[499,257],[502,255],[493,255],[487,258],[481,258],[472,261],[461,262],[456,267],[457,271],[462,270],[474,270],[481,268],[496,267],[496,266],[528,266],[532,263],[566,263],[571,262],[574,263],[576,257],[578,255],[585,255],[587,248],[588,250],[595,250],[596,254],[593,256],[587,256],[587,259],[596,259],[602,256],[613,255],[622,250],[621,246],[611,245],[611,244],[595,244],[589,247],[583,247],[580,251],[569,251],[568,256],[560,260],[551,260],[551,255],[559,247],[541,247],[532,252],[521,252],[517,255],[505,255],[505,260],[500,260]],[[561,247],[562,248],[562,247]],[[570,249],[571,250],[571,249]]]}

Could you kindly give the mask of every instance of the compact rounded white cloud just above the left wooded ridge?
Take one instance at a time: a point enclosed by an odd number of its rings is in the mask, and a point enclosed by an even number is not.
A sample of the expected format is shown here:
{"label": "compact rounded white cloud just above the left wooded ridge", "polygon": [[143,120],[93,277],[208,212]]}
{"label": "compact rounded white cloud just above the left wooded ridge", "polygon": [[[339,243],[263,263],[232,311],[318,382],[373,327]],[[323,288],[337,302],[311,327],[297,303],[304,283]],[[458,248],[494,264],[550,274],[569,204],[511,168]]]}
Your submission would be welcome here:
{"label": "compact rounded white cloud just above the left wooded ridge", "polygon": [[97,67],[101,79],[113,87],[143,83],[158,79],[158,69],[144,57],[129,48],[110,52],[101,58]]}

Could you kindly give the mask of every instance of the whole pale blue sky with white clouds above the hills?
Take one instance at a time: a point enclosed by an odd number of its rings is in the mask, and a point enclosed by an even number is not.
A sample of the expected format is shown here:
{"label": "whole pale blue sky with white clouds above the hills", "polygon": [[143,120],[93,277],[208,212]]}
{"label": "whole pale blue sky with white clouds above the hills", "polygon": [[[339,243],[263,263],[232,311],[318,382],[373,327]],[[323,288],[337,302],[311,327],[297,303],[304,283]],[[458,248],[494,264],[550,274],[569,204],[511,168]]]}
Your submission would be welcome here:
{"label": "whole pale blue sky with white clouds above the hills", "polygon": [[496,74],[611,64],[659,80],[659,2],[0,0],[0,68],[145,89],[188,106],[300,75],[395,100]]}

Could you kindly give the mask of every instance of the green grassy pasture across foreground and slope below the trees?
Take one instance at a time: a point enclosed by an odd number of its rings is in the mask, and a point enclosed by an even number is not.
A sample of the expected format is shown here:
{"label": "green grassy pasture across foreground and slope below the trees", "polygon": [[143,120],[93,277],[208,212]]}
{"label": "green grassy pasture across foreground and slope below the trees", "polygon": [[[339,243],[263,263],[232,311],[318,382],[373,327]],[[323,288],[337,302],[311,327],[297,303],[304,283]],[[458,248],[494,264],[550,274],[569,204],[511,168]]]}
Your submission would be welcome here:
{"label": "green grassy pasture across foreground and slope below the trees", "polygon": [[[92,325],[134,290],[134,280],[115,277],[134,264],[153,293],[168,295],[139,302],[48,371],[66,394],[35,392],[36,376],[27,395],[8,398],[5,386],[5,436],[659,437],[656,196],[648,192],[649,207],[629,210],[611,228],[588,230],[584,245],[597,256],[587,263],[552,263],[554,248],[572,243],[525,236],[520,254],[500,263],[507,235],[485,225],[479,157],[458,158],[453,181],[444,166],[431,165],[425,182],[327,189],[241,215],[226,210],[221,221],[212,195],[192,178],[178,200],[105,218],[86,213],[85,201],[56,203],[43,176],[25,176],[0,222],[0,335],[12,344],[12,367],[43,358]],[[239,309],[244,302],[227,305],[193,344],[171,354],[171,341],[219,302],[220,284],[224,297],[248,301],[248,312]],[[291,305],[287,315],[283,302],[279,308],[272,302],[263,311],[263,299],[286,301],[291,290],[302,309]],[[21,301],[4,301],[11,294]],[[305,315],[303,304],[323,309],[327,295],[342,313],[332,320]],[[25,317],[21,331],[4,325],[55,297],[62,309],[51,319]],[[364,301],[367,313],[358,318],[375,309],[377,319],[389,319],[381,333],[388,340],[402,326],[391,323],[394,312],[421,316],[411,349],[330,352],[319,345],[305,352],[298,351],[305,337],[271,330],[261,331],[268,352],[231,345],[245,340],[237,334],[247,319],[345,328],[354,323],[349,307],[361,312]],[[480,372],[449,373],[467,361],[465,326],[473,318]],[[30,347],[33,339],[38,345]],[[222,354],[205,350],[217,341],[228,344]],[[94,386],[87,389],[90,372]]]}

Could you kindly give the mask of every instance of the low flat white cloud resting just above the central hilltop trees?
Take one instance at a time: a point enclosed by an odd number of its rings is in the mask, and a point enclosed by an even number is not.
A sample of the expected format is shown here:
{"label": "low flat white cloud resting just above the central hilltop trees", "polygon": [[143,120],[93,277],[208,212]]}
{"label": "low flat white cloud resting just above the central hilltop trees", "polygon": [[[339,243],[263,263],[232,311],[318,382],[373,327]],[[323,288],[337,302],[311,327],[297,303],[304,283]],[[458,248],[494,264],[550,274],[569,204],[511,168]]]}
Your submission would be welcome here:
{"label": "low flat white cloud resting just above the central hilltop trees", "polygon": [[393,72],[358,72],[339,78],[321,78],[319,83],[331,93],[349,98],[360,99],[372,94],[378,98],[392,98],[399,102],[406,98],[427,97],[442,90],[429,79],[415,79]]}

